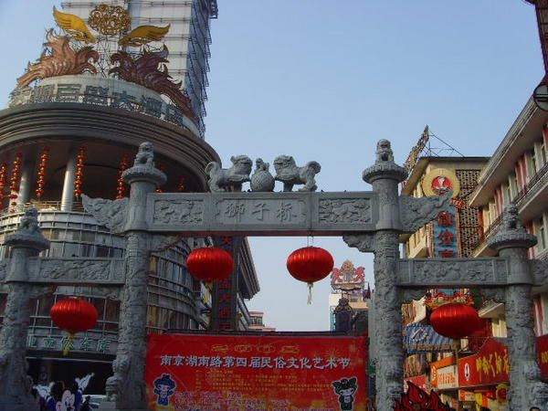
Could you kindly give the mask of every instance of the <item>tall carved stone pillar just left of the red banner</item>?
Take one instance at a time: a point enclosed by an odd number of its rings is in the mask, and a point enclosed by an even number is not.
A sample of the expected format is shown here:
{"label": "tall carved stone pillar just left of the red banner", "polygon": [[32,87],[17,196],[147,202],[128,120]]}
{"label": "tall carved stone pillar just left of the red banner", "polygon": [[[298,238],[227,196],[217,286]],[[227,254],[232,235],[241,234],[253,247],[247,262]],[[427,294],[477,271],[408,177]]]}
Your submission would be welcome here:
{"label": "tall carved stone pillar just left of the red banner", "polygon": [[120,328],[114,375],[107,379],[107,402],[100,409],[148,410],[144,363],[146,355],[146,310],[149,257],[152,235],[145,230],[146,197],[165,183],[165,174],[154,168],[153,145],[144,142],[133,167],[122,177],[131,185],[127,208],[126,278],[121,291]]}

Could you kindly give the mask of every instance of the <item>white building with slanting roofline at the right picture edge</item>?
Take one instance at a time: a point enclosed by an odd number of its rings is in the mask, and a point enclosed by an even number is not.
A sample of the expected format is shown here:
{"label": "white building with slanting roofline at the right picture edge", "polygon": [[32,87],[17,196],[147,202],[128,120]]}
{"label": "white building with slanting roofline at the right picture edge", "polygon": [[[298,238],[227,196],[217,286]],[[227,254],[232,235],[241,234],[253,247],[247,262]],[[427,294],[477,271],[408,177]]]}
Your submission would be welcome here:
{"label": "white building with slanting roofline at the right picture edge", "polygon": [[[487,240],[501,227],[505,205],[516,205],[523,226],[537,237],[529,248],[529,258],[548,258],[548,112],[528,100],[506,133],[489,163],[479,174],[477,188],[469,204],[480,210],[480,237],[473,250],[474,257],[490,256]],[[533,289],[534,331],[539,349],[539,365],[548,379],[548,290]],[[506,337],[504,305],[486,301],[479,313],[491,319],[492,333]]]}

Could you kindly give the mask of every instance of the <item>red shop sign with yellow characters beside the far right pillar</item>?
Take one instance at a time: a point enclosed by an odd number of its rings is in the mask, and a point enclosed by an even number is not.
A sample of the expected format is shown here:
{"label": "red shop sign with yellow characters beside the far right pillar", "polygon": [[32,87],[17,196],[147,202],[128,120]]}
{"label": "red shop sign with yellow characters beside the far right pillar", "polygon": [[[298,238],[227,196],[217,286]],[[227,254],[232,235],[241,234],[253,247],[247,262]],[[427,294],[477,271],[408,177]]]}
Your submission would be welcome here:
{"label": "red shop sign with yellow characters beside the far right pillar", "polygon": [[510,374],[508,348],[489,338],[479,353],[458,360],[460,386],[496,385],[507,383]]}

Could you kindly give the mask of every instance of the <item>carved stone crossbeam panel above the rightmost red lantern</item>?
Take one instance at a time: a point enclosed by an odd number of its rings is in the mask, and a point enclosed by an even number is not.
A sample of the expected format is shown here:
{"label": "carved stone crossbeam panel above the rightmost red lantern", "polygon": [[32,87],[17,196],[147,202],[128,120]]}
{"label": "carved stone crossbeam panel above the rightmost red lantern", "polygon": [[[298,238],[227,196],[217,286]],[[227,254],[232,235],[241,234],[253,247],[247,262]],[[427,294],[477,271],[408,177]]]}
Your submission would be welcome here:
{"label": "carved stone crossbeam panel above the rightmost red lantern", "polygon": [[506,258],[412,258],[399,262],[400,287],[495,287],[508,278]]}

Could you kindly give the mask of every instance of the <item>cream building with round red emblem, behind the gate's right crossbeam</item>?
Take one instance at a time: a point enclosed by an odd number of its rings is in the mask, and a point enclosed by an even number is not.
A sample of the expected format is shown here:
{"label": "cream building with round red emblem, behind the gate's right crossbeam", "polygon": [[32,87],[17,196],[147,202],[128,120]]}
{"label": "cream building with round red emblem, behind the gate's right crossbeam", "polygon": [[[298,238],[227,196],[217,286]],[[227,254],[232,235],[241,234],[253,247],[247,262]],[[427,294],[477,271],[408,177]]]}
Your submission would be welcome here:
{"label": "cream building with round red emblem, behind the gate's right crossbeam", "polygon": [[[413,152],[410,158],[412,156]],[[416,155],[413,162],[407,162],[410,174],[403,184],[403,194],[422,197],[443,195],[451,190],[453,196],[448,211],[440,213],[434,221],[415,233],[401,237],[406,258],[471,257],[481,233],[479,207],[469,205],[469,196],[476,188],[479,174],[488,160],[487,157]],[[428,320],[432,310],[429,307],[431,303],[435,305],[437,300],[449,300],[456,292],[466,294],[471,291],[479,308],[479,293],[473,290],[449,289],[425,291],[426,298],[402,307],[407,353],[404,369],[406,381],[427,391],[435,389],[444,402],[456,409],[475,407],[478,404],[476,399],[483,404],[483,394],[475,395],[473,390],[459,389],[458,358],[455,350],[458,348],[460,356],[477,353],[491,332],[479,330],[456,345],[452,340],[434,332]],[[489,322],[484,320],[485,327],[488,327]],[[488,403],[486,396],[485,405]]]}

